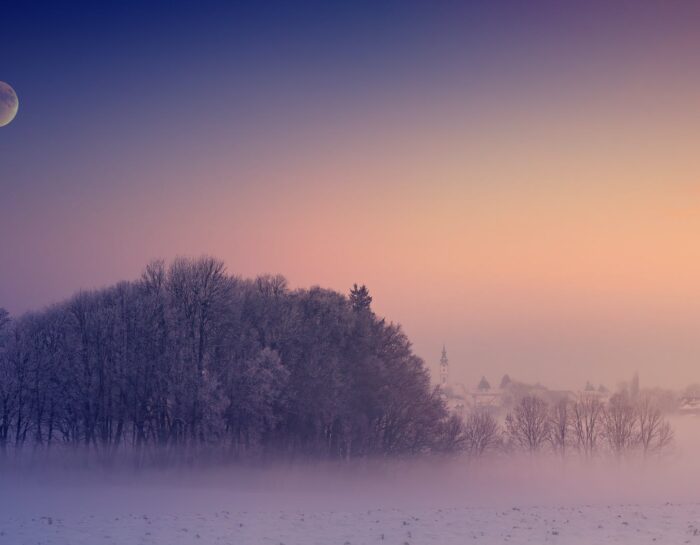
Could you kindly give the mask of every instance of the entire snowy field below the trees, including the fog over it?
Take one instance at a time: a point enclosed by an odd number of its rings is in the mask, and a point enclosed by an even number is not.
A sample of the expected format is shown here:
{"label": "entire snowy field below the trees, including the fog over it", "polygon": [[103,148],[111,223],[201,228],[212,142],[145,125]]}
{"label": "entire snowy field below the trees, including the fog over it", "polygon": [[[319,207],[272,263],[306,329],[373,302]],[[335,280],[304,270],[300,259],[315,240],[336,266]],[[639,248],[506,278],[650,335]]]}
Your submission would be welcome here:
{"label": "entire snowy field below the trees, including the fog over it", "polygon": [[0,471],[0,544],[700,545],[700,426],[663,461]]}

